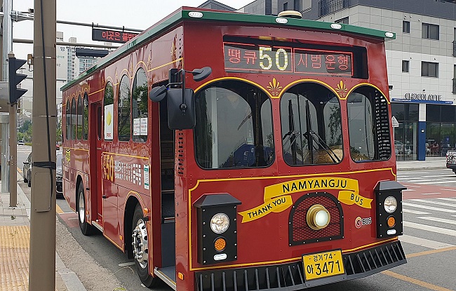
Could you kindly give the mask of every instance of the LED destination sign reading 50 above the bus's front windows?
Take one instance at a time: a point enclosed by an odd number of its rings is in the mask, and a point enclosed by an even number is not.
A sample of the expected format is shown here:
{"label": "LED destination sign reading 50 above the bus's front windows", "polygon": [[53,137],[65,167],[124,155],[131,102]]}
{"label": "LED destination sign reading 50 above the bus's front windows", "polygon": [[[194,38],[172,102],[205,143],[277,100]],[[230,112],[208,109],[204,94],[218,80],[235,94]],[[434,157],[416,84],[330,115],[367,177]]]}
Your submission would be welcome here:
{"label": "LED destination sign reading 50 above the bus's front windows", "polygon": [[279,72],[353,76],[353,53],[282,46],[227,43],[224,67],[229,72]]}

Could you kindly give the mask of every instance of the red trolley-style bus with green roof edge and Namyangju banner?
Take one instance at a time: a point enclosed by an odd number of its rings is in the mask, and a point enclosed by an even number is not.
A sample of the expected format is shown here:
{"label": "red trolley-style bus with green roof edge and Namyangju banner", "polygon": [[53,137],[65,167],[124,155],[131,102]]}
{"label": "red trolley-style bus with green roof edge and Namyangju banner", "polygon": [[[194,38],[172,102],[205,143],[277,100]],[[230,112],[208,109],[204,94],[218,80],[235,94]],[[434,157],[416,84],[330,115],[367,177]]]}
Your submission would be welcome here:
{"label": "red trolley-style bus with green roof edge and Namyangju banner", "polygon": [[175,290],[299,290],[404,264],[394,37],[175,11],[62,88],[81,231]]}

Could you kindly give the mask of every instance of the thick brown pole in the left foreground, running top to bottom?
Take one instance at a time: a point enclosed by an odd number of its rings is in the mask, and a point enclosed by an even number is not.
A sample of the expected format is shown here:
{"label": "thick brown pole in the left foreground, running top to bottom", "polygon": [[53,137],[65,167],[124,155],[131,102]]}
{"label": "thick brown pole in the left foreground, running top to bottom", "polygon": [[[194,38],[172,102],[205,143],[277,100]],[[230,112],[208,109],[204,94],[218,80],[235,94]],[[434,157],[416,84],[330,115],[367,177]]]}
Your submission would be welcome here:
{"label": "thick brown pole in the left foreground, running top to bottom", "polygon": [[55,291],[55,9],[34,0],[29,291]]}

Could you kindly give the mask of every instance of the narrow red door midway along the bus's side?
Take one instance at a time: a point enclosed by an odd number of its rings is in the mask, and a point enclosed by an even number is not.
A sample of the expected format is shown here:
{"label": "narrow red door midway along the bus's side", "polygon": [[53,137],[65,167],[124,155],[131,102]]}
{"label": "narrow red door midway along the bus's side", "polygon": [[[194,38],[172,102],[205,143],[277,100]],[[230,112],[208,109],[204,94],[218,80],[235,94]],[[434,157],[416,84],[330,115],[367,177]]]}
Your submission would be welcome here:
{"label": "narrow red door midway along the bus's side", "polygon": [[102,141],[102,107],[101,102],[91,104],[90,118],[95,122],[90,122],[90,156],[95,157],[90,161],[90,202],[92,220],[102,222],[102,189],[99,175],[101,173],[101,141]]}

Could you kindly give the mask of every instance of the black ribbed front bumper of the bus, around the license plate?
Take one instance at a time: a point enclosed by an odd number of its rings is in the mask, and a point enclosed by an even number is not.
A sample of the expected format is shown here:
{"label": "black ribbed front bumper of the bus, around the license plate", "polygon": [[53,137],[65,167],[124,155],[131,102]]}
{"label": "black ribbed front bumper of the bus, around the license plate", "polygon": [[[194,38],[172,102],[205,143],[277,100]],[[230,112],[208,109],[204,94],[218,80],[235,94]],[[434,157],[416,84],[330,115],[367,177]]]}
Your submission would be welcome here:
{"label": "black ribbed front bumper of the bus, around the license plate", "polygon": [[212,290],[300,290],[342,280],[363,278],[405,264],[400,241],[342,254],[346,273],[316,280],[304,280],[303,264],[293,262],[239,269],[199,271],[195,273],[197,291]]}

